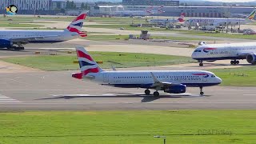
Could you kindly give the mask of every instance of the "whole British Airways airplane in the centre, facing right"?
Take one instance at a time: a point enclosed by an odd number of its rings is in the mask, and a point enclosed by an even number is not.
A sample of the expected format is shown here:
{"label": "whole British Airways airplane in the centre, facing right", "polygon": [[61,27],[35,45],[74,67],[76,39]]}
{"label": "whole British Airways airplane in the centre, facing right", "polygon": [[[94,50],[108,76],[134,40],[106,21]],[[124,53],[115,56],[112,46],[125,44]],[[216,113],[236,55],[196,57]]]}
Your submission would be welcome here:
{"label": "whole British Airways airplane in the centre, facing right", "polygon": [[77,47],[80,73],[72,74],[73,78],[88,79],[101,85],[122,88],[143,88],[145,94],[156,90],[154,96],[159,96],[158,90],[166,93],[182,94],[186,86],[200,88],[215,86],[222,82],[215,74],[203,70],[145,70],[145,71],[104,71],[83,47]]}

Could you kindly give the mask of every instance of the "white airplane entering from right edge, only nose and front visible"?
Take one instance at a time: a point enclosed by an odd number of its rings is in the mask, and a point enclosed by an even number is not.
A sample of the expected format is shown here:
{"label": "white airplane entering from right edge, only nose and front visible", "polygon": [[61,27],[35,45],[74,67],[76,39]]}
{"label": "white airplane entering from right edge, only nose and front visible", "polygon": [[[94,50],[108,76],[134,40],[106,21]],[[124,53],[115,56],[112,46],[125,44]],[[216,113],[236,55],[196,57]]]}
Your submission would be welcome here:
{"label": "white airplane entering from right edge, only nose and front visible", "polygon": [[232,44],[202,44],[192,54],[192,58],[198,60],[199,66],[203,61],[214,62],[217,60],[231,59],[231,65],[239,64],[238,59],[246,59],[251,64],[256,64],[256,42],[232,43]]}

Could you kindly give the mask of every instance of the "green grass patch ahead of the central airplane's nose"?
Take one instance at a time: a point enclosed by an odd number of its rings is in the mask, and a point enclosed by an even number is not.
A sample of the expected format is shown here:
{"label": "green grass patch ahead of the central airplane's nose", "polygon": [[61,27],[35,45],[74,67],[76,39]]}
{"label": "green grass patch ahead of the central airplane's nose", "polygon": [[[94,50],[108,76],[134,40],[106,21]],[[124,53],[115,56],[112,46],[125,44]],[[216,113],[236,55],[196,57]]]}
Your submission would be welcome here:
{"label": "green grass patch ahead of the central airplane's nose", "polygon": [[256,86],[256,66],[210,71],[222,78],[222,86]]}

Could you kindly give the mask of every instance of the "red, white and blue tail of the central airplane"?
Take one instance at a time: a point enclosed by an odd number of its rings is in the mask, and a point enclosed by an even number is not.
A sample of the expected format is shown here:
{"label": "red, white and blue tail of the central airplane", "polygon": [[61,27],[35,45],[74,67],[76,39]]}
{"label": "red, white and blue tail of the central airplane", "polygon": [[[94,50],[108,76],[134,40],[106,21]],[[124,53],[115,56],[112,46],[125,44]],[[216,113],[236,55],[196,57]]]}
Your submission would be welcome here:
{"label": "red, white and blue tail of the central airplane", "polygon": [[102,68],[98,66],[98,63],[91,58],[90,54],[83,47],[76,47],[78,62],[80,66],[81,73],[72,74],[73,78],[82,79],[84,76],[87,76],[91,73],[100,73]]}

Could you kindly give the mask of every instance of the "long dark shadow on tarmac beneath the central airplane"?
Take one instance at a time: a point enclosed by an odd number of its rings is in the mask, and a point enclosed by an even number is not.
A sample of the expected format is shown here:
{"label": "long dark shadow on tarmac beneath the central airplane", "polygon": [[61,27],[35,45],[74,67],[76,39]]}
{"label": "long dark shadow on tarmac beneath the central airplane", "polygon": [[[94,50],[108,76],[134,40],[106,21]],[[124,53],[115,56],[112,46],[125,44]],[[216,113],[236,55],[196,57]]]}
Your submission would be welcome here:
{"label": "long dark shadow on tarmac beneath the central airplane", "polygon": [[153,95],[145,94],[130,94],[130,93],[114,93],[123,95],[58,95],[51,98],[39,98],[35,100],[54,100],[54,99],[74,99],[74,98],[142,98],[141,102],[153,102],[159,98],[198,98],[204,97],[200,95],[182,94],[182,95],[160,95],[159,97],[154,97]]}

